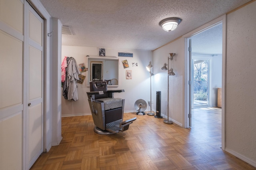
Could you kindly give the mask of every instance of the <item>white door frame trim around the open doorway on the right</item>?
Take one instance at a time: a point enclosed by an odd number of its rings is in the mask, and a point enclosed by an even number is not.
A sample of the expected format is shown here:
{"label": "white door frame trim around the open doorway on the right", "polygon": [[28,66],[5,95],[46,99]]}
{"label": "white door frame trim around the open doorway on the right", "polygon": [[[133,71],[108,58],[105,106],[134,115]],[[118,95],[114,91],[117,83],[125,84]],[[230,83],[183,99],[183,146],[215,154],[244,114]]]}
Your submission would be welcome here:
{"label": "white door frame trim around the open doorway on the right", "polygon": [[203,26],[185,34],[182,36],[185,39],[185,93],[184,93],[184,99],[185,99],[185,108],[184,108],[184,128],[189,128],[189,113],[190,113],[190,57],[189,57],[189,38],[194,36],[195,34],[198,34],[200,32],[203,32],[204,30],[207,30],[208,28],[211,28],[212,26],[215,26],[217,24],[222,23],[222,149],[225,150],[225,129],[226,129],[226,120],[225,120],[225,113],[226,113],[226,14],[223,16],[220,16],[219,18],[216,18],[215,20],[212,20],[211,22],[208,22],[207,24],[204,24]]}

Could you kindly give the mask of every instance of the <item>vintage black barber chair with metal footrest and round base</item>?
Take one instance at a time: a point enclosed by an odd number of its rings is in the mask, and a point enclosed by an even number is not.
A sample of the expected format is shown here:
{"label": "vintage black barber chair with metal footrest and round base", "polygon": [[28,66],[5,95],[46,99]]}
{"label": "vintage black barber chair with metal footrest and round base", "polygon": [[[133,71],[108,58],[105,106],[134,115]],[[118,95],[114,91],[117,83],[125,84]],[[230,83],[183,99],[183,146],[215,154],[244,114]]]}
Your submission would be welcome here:
{"label": "vintage black barber chair with metal footrest and round base", "polygon": [[136,117],[123,121],[124,99],[114,98],[114,93],[124,90],[108,90],[106,81],[91,81],[90,92],[87,92],[94,132],[98,134],[114,134],[128,130]]}

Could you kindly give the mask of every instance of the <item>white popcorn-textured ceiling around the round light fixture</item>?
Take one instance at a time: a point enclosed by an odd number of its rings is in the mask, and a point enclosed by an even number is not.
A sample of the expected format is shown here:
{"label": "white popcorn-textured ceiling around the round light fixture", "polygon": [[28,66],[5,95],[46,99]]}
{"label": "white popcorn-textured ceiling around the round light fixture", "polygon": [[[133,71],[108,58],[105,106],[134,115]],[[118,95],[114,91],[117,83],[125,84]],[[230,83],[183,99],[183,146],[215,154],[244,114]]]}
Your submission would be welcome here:
{"label": "white popcorn-textured ceiling around the round light fixture", "polygon": [[[154,50],[250,0],[40,1],[53,18],[70,26],[74,35],[62,35],[62,45]],[[175,31],[158,25],[168,17],[182,19]]]}

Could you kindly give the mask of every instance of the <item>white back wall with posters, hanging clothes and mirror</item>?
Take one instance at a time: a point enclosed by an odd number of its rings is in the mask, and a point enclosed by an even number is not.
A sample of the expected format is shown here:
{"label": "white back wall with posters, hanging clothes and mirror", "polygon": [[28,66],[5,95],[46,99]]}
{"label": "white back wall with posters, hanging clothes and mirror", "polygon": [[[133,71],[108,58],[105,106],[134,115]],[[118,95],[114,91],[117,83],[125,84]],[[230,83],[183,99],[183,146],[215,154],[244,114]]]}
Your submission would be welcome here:
{"label": "white back wall with posters, hanging clothes and mirror", "polygon": [[[98,47],[62,45],[61,61],[64,59],[64,56],[74,57],[77,64],[85,63],[86,67],[88,67],[88,64],[86,63],[86,55],[89,55],[90,57],[98,56],[98,50]],[[119,86],[108,87],[108,89],[124,89],[124,93],[115,93],[114,97],[125,99],[124,112],[136,112],[134,109],[136,100],[143,99],[146,102],[150,100],[150,75],[146,70],[146,66],[149,64],[149,61],[152,60],[152,51],[106,48],[106,56],[118,57],[118,52],[133,53],[133,57],[119,57]],[[124,69],[122,60],[126,59],[128,60],[129,67]],[[132,63],[135,62],[138,63],[138,67],[132,67]],[[126,70],[132,70],[132,79],[126,79]],[[83,72],[82,75],[86,75],[87,72],[88,71]],[[90,91],[90,87],[87,87],[86,80],[84,80],[83,84],[77,83],[77,86],[77,101],[68,101],[62,97],[62,116],[91,114],[88,97],[86,95],[86,92]],[[148,107],[146,111],[149,110],[150,107]]]}

